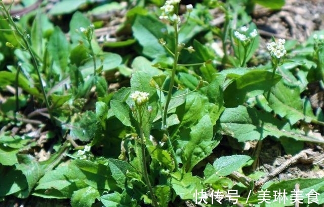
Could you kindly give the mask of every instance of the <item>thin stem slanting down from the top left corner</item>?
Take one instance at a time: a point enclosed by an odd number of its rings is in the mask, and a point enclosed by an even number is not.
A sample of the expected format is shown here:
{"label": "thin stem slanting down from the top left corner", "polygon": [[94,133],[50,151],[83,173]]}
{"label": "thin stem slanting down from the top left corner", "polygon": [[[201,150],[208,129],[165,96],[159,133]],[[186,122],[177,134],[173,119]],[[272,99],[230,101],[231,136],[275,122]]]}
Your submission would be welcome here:
{"label": "thin stem slanting down from the top left corner", "polygon": [[38,80],[39,80],[39,84],[41,85],[41,90],[42,90],[42,93],[43,93],[43,96],[44,96],[46,108],[48,109],[51,122],[53,124],[55,124],[55,119],[54,119],[53,114],[52,114],[52,110],[51,110],[51,107],[50,107],[50,103],[49,103],[49,100],[48,100],[48,98],[46,96],[45,88],[44,88],[43,83],[42,83],[42,76],[41,76],[41,72],[39,71],[39,66],[38,66],[38,63],[37,63],[37,60],[36,60],[36,56],[32,52],[32,49],[31,49],[31,47],[30,47],[30,45],[29,45],[26,37],[24,37],[24,34],[19,30],[18,26],[13,21],[13,19],[11,18],[10,14],[9,14],[9,11],[5,8],[5,5],[4,5],[4,3],[2,1],[0,1],[0,5],[3,8],[3,10],[5,11],[6,16],[8,17],[8,20],[9,20],[10,24],[14,27],[14,29],[16,30],[16,32],[18,33],[18,35],[20,36],[20,38],[23,40],[23,42],[25,44],[25,47],[27,48],[27,50],[28,50],[28,52],[29,52],[29,54],[31,56],[31,60],[32,60],[33,66],[35,67],[35,70],[36,70],[36,73],[37,73],[37,77],[38,77]]}

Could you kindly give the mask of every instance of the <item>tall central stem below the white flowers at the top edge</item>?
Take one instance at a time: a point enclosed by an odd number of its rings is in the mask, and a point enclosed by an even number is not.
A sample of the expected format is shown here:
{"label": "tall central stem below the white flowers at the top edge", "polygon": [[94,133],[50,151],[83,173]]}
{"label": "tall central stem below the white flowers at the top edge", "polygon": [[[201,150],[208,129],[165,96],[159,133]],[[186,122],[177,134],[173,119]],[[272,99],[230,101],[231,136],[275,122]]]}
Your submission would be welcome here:
{"label": "tall central stem below the white flowers at the top edge", "polygon": [[[171,74],[171,80],[170,80],[170,84],[169,84],[169,91],[168,91],[168,95],[167,95],[167,99],[166,99],[166,105],[165,105],[165,109],[164,109],[164,114],[163,114],[163,128],[167,131],[167,115],[168,115],[168,108],[169,108],[169,104],[170,104],[170,100],[171,100],[171,95],[172,95],[172,89],[173,89],[173,85],[174,85],[174,79],[175,79],[175,75],[176,75],[176,71],[177,71],[177,66],[178,66],[178,58],[179,58],[179,33],[178,33],[178,23],[175,22],[174,23],[174,30],[175,30],[175,52],[174,52],[174,61],[173,61],[173,67],[172,67],[172,74]],[[175,162],[175,167],[176,170],[178,171],[178,160],[176,158],[176,153],[173,149],[172,143],[170,141],[170,137],[169,137],[169,133],[168,134],[168,145],[172,154],[172,157],[174,159]]]}

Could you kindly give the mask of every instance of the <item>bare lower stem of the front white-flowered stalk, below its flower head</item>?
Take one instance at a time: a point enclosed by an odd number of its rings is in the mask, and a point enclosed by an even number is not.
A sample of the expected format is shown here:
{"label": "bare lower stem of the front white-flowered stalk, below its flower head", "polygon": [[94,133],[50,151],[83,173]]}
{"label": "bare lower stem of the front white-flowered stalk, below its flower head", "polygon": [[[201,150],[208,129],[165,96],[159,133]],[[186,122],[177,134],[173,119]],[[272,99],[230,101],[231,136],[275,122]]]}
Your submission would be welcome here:
{"label": "bare lower stem of the front white-flowered stalk, below its flower head", "polygon": [[142,128],[142,120],[140,119],[140,123],[139,123],[139,128],[140,128],[140,143],[141,143],[141,152],[142,152],[142,162],[143,162],[143,177],[145,180],[145,183],[148,187],[152,202],[153,202],[153,206],[157,207],[158,203],[157,200],[155,198],[154,192],[153,192],[153,188],[150,182],[150,179],[148,177],[148,172],[147,172],[147,166],[146,166],[146,155],[145,155],[145,143],[144,143],[144,132],[143,132],[143,128]]}

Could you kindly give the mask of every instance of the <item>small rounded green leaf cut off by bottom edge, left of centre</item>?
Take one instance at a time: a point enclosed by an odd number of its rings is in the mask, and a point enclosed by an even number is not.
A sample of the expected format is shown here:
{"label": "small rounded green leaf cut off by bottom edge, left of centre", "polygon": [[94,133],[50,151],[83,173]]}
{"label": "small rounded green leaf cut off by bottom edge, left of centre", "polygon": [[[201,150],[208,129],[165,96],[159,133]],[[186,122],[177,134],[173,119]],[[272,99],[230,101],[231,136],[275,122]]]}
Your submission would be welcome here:
{"label": "small rounded green leaf cut off by bottom edge, left of centre", "polygon": [[100,193],[97,189],[89,186],[87,188],[82,188],[74,191],[71,197],[72,207],[86,207],[92,206],[95,200],[100,197]]}

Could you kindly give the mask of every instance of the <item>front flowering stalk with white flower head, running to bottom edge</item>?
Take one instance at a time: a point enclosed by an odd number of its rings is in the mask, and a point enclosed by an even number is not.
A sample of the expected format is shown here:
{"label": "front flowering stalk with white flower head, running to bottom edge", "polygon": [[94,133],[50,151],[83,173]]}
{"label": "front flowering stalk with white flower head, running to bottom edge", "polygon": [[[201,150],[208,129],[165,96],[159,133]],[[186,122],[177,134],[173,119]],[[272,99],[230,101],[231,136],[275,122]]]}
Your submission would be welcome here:
{"label": "front flowering stalk with white flower head, running to bottom edge", "polygon": [[[144,111],[146,110],[146,103],[148,101],[148,96],[149,96],[149,93],[147,93],[147,92],[140,92],[140,91],[133,92],[130,95],[130,97],[134,100],[135,106],[132,105],[131,110],[133,112],[133,116],[134,116],[135,120],[137,121],[138,127],[139,127],[139,137],[137,139],[137,142],[139,142],[139,144],[141,146],[143,177],[144,177],[145,183],[148,187],[148,190],[149,190],[149,193],[150,193],[150,196],[152,199],[152,204],[154,207],[157,207],[158,203],[157,203],[156,197],[154,195],[151,182],[148,177],[146,153],[145,153],[145,147],[146,147],[145,146],[145,135],[143,132],[143,114],[144,114]],[[151,112],[152,107],[148,106],[147,110],[149,112]]]}

